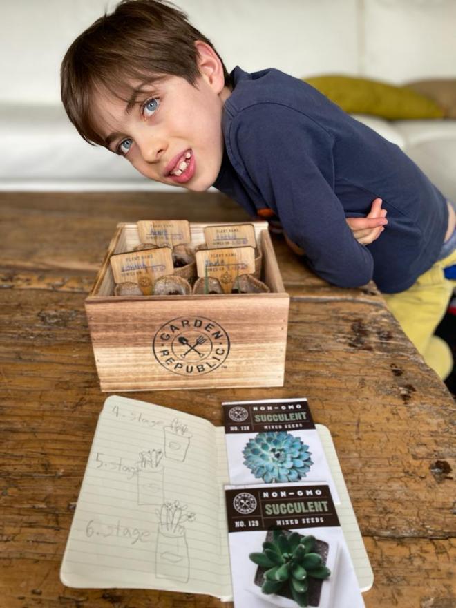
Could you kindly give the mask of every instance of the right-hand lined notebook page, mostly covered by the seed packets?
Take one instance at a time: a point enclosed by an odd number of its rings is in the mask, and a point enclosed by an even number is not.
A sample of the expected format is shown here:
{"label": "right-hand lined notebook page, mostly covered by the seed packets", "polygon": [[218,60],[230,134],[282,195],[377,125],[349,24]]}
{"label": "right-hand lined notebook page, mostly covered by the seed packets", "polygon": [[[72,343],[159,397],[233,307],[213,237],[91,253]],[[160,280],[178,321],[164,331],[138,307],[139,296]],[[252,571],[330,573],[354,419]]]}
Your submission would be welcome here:
{"label": "right-hand lined notebook page, mostly covered by the seed packets", "polygon": [[350,551],[354,571],[359,583],[359,589],[361,589],[361,591],[368,591],[374,584],[374,573],[370,566],[368,554],[365,551],[363,538],[361,536],[361,531],[359,530],[357,517],[353,511],[350,496],[348,495],[347,486],[345,486],[345,479],[343,479],[336,448],[334,447],[330,430],[323,424],[316,424],[315,426],[316,430],[319,432],[327,463],[330,466],[334,484],[336,484],[337,492],[339,493],[339,498],[341,500],[340,504],[334,506],[336,507],[339,521],[341,522],[341,528],[343,530],[345,542],[347,543],[348,551]]}

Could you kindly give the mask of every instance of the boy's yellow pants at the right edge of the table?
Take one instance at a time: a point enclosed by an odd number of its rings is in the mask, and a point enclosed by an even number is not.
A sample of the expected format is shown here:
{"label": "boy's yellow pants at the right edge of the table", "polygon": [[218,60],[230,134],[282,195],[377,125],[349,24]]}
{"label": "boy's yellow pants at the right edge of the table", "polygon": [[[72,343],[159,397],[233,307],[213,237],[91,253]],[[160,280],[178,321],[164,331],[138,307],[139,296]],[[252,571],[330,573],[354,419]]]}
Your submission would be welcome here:
{"label": "boy's yellow pants at the right edge of the table", "polygon": [[456,281],[449,281],[444,276],[444,268],[453,264],[456,264],[456,251],[421,274],[405,292],[383,294],[408,339],[443,380],[453,369],[453,356],[448,344],[433,334],[456,287]]}

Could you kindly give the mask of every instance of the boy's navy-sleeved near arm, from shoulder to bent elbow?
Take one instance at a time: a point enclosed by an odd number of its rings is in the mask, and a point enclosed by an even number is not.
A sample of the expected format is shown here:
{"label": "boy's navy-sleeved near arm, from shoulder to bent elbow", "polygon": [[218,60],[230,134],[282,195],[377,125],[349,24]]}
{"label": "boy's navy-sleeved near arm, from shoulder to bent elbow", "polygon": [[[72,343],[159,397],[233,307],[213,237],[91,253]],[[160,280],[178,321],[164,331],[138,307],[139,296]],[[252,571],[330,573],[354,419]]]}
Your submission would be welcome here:
{"label": "boy's navy-sleeved near arm, from shoulder to bent elbow", "polygon": [[289,240],[304,249],[314,272],[339,287],[359,287],[372,278],[374,263],[353,238],[334,193],[333,143],[307,116],[278,104],[247,108],[229,133],[240,158],[236,170],[275,207]]}

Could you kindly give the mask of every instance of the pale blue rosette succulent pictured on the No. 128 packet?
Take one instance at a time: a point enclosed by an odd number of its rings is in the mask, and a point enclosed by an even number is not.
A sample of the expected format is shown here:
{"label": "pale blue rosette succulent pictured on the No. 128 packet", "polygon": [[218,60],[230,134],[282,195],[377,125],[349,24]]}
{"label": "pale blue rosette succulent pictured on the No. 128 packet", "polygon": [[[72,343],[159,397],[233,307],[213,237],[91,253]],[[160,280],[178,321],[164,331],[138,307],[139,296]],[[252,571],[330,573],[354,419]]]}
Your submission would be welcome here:
{"label": "pale blue rosette succulent pictured on the No. 128 packet", "polygon": [[308,450],[299,437],[283,430],[258,433],[243,449],[244,464],[267,484],[297,482],[314,464]]}

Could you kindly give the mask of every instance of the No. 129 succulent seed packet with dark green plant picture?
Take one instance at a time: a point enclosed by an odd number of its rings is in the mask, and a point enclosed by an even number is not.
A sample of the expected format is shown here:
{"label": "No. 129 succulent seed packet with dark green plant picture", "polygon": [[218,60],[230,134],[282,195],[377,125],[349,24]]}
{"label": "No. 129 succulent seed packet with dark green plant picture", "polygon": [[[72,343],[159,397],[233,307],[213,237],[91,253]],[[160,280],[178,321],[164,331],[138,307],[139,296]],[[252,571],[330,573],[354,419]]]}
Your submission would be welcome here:
{"label": "No. 129 succulent seed packet with dark green plant picture", "polygon": [[235,608],[363,608],[329,486],[225,486]]}

